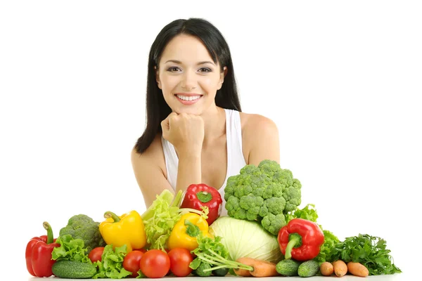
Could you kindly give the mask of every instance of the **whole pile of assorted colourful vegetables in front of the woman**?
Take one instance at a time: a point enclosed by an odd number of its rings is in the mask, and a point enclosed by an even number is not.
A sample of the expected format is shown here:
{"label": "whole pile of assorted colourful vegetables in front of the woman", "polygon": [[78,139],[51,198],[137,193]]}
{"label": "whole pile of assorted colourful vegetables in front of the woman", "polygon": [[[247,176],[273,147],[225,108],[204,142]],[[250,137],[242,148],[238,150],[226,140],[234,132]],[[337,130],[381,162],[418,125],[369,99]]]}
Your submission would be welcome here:
{"label": "whole pile of assorted colourful vegetables in front of the woman", "polygon": [[301,184],[288,169],[264,160],[228,178],[223,198],[205,184],[186,192],[164,190],[143,214],[104,213],[96,222],[77,214],[58,237],[34,237],[25,253],[35,277],[113,278],[166,275],[342,277],[401,273],[381,237],[340,241],[316,221],[314,204],[302,209]]}

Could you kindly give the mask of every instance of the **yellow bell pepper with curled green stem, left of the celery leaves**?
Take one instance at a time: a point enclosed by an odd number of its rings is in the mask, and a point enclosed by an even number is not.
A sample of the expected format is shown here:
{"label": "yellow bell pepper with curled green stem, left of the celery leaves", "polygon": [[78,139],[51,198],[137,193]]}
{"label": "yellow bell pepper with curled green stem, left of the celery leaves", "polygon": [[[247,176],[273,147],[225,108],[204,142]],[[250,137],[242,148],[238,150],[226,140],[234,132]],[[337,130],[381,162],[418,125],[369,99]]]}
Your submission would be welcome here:
{"label": "yellow bell pepper with curled green stem, left of the celery leaves", "polygon": [[127,246],[127,253],[134,249],[142,249],[146,245],[145,226],[137,211],[117,216],[111,211],[104,214],[106,221],[99,226],[101,235],[107,244],[115,247]]}

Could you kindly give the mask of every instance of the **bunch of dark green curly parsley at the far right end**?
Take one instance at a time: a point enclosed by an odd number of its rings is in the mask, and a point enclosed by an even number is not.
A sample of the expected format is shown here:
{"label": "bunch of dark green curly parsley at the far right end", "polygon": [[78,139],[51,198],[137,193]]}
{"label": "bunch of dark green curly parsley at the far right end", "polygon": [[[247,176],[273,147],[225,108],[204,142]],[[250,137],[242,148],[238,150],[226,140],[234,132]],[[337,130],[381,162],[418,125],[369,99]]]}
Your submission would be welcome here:
{"label": "bunch of dark green curly parsley at the far right end", "polygon": [[369,275],[401,273],[390,256],[385,240],[368,234],[347,237],[335,245],[333,260],[341,259],[345,263],[362,263],[369,270]]}

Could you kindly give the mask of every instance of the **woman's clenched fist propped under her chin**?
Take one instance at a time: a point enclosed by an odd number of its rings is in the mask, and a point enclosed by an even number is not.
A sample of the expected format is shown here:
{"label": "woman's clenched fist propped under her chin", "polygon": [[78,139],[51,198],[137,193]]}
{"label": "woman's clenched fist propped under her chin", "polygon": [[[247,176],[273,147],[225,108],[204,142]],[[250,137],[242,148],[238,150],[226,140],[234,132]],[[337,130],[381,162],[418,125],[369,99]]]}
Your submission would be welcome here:
{"label": "woman's clenched fist propped under her chin", "polygon": [[176,112],[162,120],[162,137],[174,145],[178,153],[200,155],[204,140],[204,121],[198,115]]}

